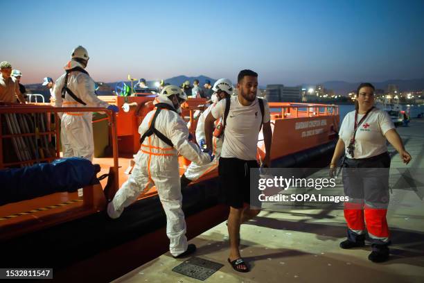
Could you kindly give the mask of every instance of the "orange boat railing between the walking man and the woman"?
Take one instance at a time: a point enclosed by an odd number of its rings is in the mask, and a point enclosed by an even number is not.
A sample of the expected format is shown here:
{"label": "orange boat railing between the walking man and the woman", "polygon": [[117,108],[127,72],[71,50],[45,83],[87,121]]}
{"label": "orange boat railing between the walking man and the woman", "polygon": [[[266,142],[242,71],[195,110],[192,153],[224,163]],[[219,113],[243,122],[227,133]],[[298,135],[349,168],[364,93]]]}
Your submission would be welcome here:
{"label": "orange boat railing between the walking man and the woman", "polygon": [[270,102],[269,105],[271,116],[274,119],[337,116],[339,114],[337,105],[286,102]]}

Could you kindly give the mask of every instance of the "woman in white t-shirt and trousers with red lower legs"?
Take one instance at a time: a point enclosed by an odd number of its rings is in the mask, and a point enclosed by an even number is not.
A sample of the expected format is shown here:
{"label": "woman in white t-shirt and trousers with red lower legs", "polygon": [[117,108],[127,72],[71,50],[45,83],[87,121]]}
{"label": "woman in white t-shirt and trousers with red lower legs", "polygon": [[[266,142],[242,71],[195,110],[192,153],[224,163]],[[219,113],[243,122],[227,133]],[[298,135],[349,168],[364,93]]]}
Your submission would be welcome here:
{"label": "woman in white t-shirt and trousers with red lower legs", "polygon": [[355,111],[346,114],[340,126],[330,175],[334,176],[337,161],[344,153],[344,193],[349,197],[344,204],[344,218],[348,239],[342,241],[340,247],[364,246],[366,223],[372,247],[368,258],[382,262],[389,259],[390,243],[386,220],[390,156],[386,141],[396,148],[405,164],[411,155],[405,151],[389,114],[374,107],[374,90],[370,83],[362,83],[357,88]]}

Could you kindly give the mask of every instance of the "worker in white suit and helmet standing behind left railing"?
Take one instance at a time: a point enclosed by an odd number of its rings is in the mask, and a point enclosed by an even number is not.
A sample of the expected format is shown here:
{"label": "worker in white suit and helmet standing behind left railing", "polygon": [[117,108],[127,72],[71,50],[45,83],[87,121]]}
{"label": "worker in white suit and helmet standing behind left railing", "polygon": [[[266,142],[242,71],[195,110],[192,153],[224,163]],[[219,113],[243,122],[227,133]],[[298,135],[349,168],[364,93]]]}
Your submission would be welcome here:
{"label": "worker in white suit and helmet standing behind left railing", "polygon": [[[101,107],[118,112],[116,105],[109,105],[97,98],[94,80],[89,76],[87,50],[73,49],[71,61],[64,66],[65,74],[56,80],[53,94],[56,107]],[[82,157],[92,161],[94,155],[93,114],[91,112],[59,113],[61,119],[60,141],[63,157]]]}

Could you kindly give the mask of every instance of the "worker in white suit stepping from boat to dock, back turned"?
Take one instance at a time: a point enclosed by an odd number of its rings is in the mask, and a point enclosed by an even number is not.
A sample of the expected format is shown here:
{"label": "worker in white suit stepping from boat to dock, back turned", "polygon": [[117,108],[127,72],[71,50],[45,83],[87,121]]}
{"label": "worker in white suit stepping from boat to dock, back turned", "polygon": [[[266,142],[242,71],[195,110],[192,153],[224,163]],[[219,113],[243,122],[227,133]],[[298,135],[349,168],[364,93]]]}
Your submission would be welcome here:
{"label": "worker in white suit stepping from boat to dock, back turned", "polygon": [[198,164],[207,164],[213,158],[188,141],[188,128],[177,113],[186,99],[175,85],[164,87],[154,99],[154,110],[145,115],[139,126],[141,148],[134,155],[132,174],[107,205],[108,216],[118,218],[125,207],[155,185],[166,214],[166,235],[174,257],[186,256],[196,249],[194,244],[187,244],[178,153]]}

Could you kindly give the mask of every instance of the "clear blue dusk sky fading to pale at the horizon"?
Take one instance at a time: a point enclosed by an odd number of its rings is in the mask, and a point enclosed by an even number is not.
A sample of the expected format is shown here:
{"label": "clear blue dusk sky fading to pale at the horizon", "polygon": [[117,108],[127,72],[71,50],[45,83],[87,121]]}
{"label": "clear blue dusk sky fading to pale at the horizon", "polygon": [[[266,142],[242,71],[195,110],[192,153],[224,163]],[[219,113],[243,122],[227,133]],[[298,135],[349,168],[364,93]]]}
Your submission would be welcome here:
{"label": "clear blue dusk sky fading to pale at the horizon", "polygon": [[[119,4],[117,4],[119,3]],[[95,80],[205,75],[260,85],[424,78],[424,1],[5,1],[0,61],[22,83],[88,49]]]}

